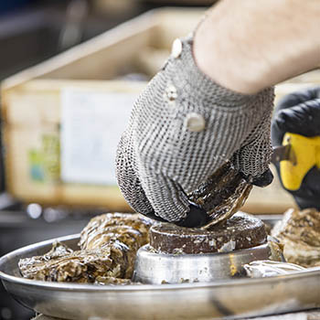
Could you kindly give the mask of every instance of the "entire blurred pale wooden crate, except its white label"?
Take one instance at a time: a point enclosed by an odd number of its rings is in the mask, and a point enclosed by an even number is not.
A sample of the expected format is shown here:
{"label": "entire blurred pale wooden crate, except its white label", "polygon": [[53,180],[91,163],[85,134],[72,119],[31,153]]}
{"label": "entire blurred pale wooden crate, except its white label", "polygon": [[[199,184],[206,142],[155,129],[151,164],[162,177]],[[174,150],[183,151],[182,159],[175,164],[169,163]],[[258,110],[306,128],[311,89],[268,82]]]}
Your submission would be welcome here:
{"label": "entire blurred pale wooden crate, except its white label", "polygon": [[[5,174],[10,194],[45,205],[128,210],[114,182],[75,183],[62,177],[63,97],[74,90],[82,96],[138,94],[146,82],[116,79],[132,72],[152,77],[173,40],[187,35],[203,13],[195,8],[154,10],[3,81]],[[280,85],[277,98],[302,86]],[[112,108],[112,103],[106,103],[106,110]],[[101,143],[106,140],[108,136],[101,137]],[[291,206],[292,198],[276,179],[271,187],[254,189],[244,210],[279,213]]]}

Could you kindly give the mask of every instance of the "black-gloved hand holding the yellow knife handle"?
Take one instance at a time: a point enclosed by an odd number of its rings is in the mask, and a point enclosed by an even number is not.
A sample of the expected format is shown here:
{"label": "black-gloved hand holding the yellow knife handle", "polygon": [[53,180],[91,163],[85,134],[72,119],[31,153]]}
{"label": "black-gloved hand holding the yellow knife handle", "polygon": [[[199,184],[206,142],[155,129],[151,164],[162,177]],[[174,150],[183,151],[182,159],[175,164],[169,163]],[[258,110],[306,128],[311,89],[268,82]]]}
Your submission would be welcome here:
{"label": "black-gloved hand holding the yellow knife handle", "polygon": [[[283,144],[285,133],[306,137],[320,135],[320,87],[288,94],[279,101],[272,119],[272,144]],[[307,155],[305,155],[307,156]],[[280,165],[276,165],[281,180]],[[315,166],[304,176],[301,187],[288,190],[300,208],[320,209],[320,170]],[[285,187],[284,187],[285,188]]]}

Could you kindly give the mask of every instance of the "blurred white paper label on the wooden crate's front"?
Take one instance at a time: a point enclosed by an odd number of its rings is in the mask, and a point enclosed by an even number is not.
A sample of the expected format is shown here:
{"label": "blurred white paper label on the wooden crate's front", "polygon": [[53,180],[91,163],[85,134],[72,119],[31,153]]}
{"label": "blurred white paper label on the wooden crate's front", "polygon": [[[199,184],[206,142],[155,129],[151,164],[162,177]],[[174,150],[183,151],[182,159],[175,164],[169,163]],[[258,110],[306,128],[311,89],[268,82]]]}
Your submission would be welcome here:
{"label": "blurred white paper label on the wooden crate's front", "polygon": [[61,179],[115,185],[115,153],[138,93],[61,92]]}

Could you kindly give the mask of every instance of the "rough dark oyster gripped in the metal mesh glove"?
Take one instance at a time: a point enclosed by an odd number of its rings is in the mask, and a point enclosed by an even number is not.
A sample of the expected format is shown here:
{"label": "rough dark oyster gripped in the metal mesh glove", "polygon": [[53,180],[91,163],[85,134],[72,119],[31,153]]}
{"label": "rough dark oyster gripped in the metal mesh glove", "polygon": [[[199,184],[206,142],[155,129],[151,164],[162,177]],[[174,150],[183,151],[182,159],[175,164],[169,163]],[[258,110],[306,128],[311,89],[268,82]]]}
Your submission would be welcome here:
{"label": "rough dark oyster gripped in the metal mesh glove", "polygon": [[251,188],[233,165],[227,162],[188,198],[208,212],[212,220],[204,227],[207,229],[235,214],[243,206]]}

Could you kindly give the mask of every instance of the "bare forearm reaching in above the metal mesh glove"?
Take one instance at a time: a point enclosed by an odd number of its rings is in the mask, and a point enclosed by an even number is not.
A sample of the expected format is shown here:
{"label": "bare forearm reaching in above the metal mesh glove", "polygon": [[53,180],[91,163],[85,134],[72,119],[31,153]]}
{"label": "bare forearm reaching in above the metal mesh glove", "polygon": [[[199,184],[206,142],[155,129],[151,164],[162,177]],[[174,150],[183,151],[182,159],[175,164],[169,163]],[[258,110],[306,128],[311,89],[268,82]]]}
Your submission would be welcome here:
{"label": "bare forearm reaching in above the metal mesh glove", "polygon": [[261,91],[320,64],[319,0],[223,0],[197,28],[197,66],[222,86]]}

